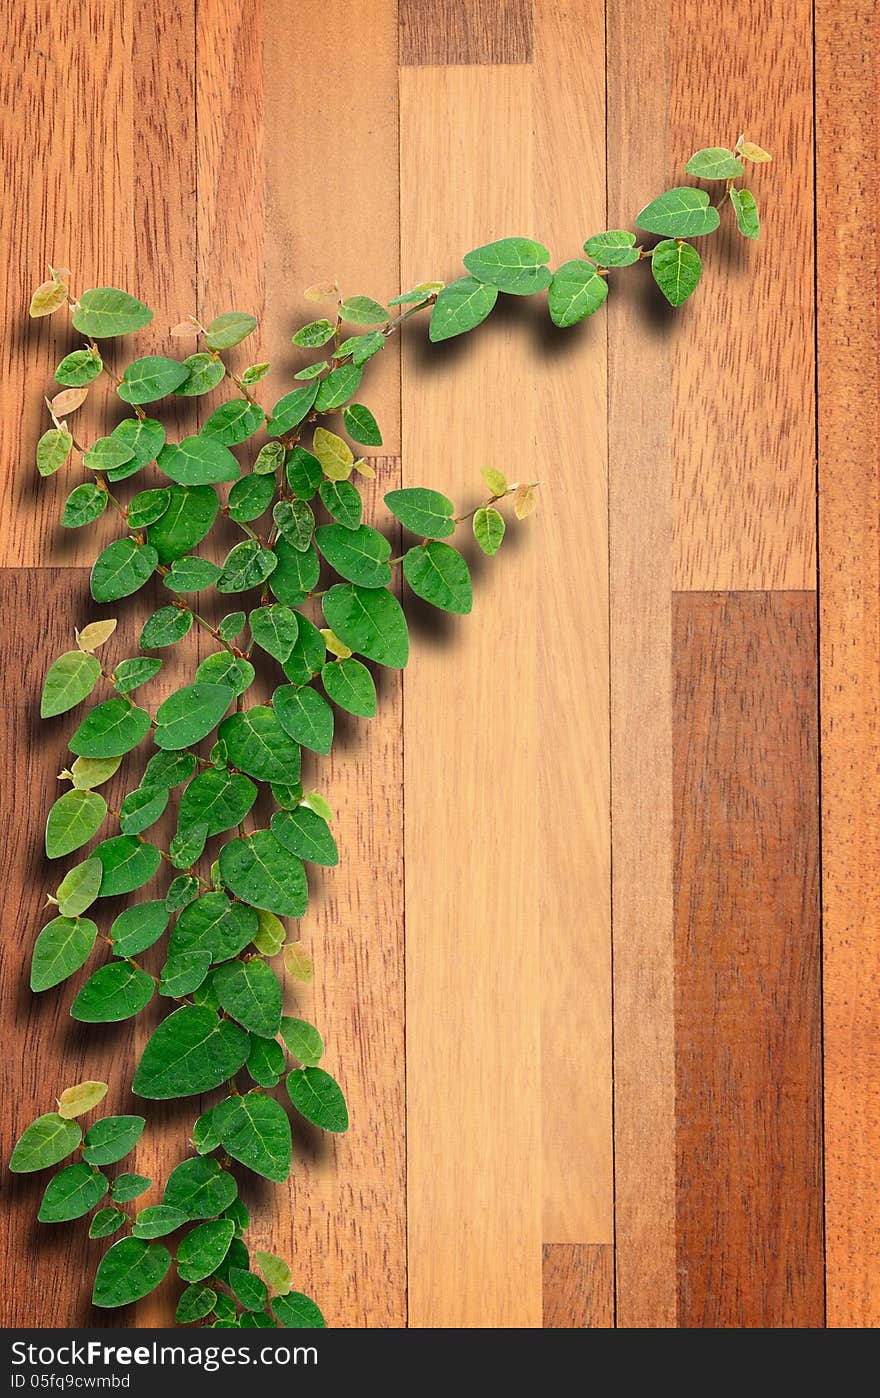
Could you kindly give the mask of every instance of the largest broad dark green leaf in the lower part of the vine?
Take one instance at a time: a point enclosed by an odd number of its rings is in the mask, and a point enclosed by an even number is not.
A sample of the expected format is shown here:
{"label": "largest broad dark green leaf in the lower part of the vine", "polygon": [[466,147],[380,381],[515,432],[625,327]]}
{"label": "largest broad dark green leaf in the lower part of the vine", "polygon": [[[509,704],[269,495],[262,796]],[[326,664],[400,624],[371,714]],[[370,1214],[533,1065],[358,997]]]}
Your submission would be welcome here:
{"label": "largest broad dark green leaf in the lower part of the vine", "polygon": [[[192,1097],[211,1092],[243,1067],[249,1047],[248,1035],[238,1025],[218,1019],[204,1005],[182,1005],[154,1030],[132,1090],[139,1097]],[[176,1201],[166,1197],[164,1202]]]}

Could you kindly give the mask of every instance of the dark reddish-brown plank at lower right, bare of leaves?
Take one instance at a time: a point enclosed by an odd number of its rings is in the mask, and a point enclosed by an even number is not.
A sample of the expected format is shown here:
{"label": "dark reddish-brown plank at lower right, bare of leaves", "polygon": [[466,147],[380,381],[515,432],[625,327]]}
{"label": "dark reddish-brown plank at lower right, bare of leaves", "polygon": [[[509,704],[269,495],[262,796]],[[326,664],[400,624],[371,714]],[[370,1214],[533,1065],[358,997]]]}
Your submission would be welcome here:
{"label": "dark reddish-brown plank at lower right, bare of leaves", "polygon": [[824,1324],[813,593],[673,608],[679,1324]]}

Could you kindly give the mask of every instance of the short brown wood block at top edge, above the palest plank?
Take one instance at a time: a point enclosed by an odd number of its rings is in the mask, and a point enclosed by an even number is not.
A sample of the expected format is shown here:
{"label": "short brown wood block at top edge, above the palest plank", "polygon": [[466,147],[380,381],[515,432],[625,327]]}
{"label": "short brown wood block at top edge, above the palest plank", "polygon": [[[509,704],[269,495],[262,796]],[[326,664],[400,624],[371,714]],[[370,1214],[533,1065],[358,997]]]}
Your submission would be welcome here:
{"label": "short brown wood block at top edge, above the palest plank", "polygon": [[399,0],[400,62],[529,63],[532,10],[532,0]]}

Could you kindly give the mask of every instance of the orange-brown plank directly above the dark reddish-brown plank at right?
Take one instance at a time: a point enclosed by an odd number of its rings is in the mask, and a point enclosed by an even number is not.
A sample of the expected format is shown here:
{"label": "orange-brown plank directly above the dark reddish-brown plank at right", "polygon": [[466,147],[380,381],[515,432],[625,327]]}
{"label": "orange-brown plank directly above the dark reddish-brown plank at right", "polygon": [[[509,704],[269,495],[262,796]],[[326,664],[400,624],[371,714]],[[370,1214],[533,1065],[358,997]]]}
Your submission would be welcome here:
{"label": "orange-brown plank directly above the dark reddish-brown plank at right", "polygon": [[810,0],[672,6],[669,67],[655,78],[669,81],[667,154],[642,201],[665,178],[690,183],[691,152],[733,145],[740,131],[774,154],[772,165],[746,165],[760,242],[740,238],[722,208],[722,231],[697,239],[697,294],[662,317],[676,326],[677,589],[816,586],[811,73]]}

